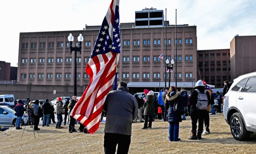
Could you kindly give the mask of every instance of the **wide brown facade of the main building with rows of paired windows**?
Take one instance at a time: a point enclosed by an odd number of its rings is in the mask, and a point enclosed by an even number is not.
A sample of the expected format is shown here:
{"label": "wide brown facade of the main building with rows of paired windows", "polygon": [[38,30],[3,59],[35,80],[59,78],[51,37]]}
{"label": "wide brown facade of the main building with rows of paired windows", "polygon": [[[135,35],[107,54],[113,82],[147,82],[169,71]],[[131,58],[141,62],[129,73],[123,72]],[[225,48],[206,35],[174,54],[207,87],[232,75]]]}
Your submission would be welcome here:
{"label": "wide brown facade of the main building with rows of paired windows", "polygon": [[[134,23],[121,23],[121,53],[118,80],[129,82],[164,82],[165,54],[175,59],[175,26],[134,28]],[[23,32],[19,40],[18,84],[74,85],[74,53],[69,52],[68,36],[84,37],[82,53],[77,54],[77,85],[88,85],[85,67],[89,61],[99,26],[86,26],[85,30]],[[192,82],[197,76],[196,26],[177,26],[177,81]],[[78,44],[74,40],[73,44]],[[165,56],[164,56],[165,59]],[[174,72],[171,82],[175,82]],[[168,76],[167,76],[168,82]],[[167,84],[168,85],[168,84]]]}

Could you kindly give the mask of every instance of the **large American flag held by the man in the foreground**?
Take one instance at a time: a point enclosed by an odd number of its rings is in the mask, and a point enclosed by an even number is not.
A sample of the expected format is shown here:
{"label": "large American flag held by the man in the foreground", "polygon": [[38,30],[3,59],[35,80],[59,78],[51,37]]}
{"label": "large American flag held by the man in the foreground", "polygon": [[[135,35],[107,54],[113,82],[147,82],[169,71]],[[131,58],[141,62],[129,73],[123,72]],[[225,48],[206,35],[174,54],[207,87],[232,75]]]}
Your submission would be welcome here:
{"label": "large American flag held by the man in the foreground", "polygon": [[112,0],[85,68],[90,83],[70,113],[91,134],[99,127],[102,108],[115,79],[120,47],[119,0]]}

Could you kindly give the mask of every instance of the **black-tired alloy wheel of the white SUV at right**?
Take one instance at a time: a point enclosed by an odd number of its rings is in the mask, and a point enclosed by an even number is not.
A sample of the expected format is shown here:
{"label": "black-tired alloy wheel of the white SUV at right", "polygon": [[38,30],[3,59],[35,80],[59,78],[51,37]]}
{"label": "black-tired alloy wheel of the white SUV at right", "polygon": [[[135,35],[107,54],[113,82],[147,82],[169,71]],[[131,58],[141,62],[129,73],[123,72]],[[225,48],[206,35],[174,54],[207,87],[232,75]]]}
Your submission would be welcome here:
{"label": "black-tired alloy wheel of the white SUV at right", "polygon": [[250,132],[246,130],[245,123],[239,113],[234,113],[230,120],[230,131],[233,137],[238,141],[246,141],[250,138]]}

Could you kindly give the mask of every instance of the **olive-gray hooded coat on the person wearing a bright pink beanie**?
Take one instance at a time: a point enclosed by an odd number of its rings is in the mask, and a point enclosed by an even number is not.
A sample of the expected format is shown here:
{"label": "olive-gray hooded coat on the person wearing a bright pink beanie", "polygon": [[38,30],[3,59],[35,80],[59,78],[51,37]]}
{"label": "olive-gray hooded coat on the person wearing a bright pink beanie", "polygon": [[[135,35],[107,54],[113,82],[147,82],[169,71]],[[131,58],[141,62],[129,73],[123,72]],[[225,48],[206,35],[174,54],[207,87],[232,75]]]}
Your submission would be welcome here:
{"label": "olive-gray hooded coat on the person wearing a bright pink beanie", "polygon": [[155,95],[154,91],[150,90],[146,96],[146,107],[144,109],[144,115],[155,115]]}

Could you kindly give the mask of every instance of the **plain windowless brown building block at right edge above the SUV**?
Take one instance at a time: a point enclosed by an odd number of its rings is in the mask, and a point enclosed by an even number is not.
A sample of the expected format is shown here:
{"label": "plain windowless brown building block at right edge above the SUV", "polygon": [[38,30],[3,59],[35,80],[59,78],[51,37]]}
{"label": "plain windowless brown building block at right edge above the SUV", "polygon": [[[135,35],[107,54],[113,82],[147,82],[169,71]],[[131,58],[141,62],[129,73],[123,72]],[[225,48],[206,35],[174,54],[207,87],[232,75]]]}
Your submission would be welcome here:
{"label": "plain windowless brown building block at right edge above the SUV", "polygon": [[256,36],[235,36],[230,42],[231,80],[255,72]]}

